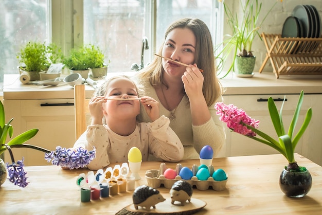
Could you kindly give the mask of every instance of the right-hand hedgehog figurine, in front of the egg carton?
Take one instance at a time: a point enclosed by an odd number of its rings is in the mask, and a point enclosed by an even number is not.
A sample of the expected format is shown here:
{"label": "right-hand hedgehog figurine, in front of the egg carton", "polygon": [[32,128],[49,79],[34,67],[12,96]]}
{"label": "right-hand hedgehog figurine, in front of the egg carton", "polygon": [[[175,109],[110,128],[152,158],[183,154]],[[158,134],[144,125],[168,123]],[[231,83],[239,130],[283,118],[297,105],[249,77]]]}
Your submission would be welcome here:
{"label": "right-hand hedgehog figurine, in front of the egg carton", "polygon": [[188,182],[183,180],[176,181],[170,190],[171,204],[174,205],[174,202],[178,201],[184,206],[187,200],[190,202],[192,192],[192,186]]}

